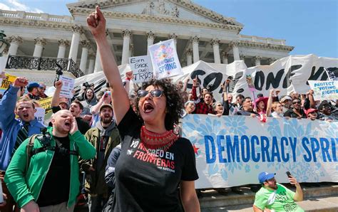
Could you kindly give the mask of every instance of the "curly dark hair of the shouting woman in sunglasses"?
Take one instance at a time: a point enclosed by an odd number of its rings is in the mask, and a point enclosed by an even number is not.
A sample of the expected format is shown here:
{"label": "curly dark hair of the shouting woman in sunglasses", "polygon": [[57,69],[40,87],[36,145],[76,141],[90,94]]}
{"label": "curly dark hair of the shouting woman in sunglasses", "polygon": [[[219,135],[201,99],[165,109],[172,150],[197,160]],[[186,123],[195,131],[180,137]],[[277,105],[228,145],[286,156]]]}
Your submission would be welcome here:
{"label": "curly dark hair of the shouting woman in sunglasses", "polygon": [[[148,82],[143,83],[139,88],[135,88],[135,93],[138,90],[145,90],[149,85],[163,88],[163,94],[165,95],[166,102],[166,114],[165,114],[165,129],[170,130],[174,128],[174,124],[178,124],[180,117],[183,115],[183,95],[178,89],[178,86],[170,79],[151,79]],[[136,106],[136,114],[142,120],[140,116],[140,110],[138,108],[139,98],[133,98],[133,105]],[[143,120],[142,120],[143,121]]]}

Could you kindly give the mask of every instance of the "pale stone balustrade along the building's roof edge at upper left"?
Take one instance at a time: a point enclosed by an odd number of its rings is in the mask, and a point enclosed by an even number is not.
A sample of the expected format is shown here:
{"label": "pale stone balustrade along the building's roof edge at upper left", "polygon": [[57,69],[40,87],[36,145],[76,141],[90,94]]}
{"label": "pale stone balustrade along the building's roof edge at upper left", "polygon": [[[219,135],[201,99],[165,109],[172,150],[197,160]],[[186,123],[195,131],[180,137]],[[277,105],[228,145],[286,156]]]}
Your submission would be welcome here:
{"label": "pale stone balustrade along the building's roof edge at upper left", "polygon": [[29,20],[40,20],[40,21],[53,21],[53,22],[63,22],[63,23],[72,23],[73,20],[71,16],[56,16],[50,14],[36,14],[28,13],[25,11],[8,11],[0,10],[0,16],[7,18],[25,18]]}

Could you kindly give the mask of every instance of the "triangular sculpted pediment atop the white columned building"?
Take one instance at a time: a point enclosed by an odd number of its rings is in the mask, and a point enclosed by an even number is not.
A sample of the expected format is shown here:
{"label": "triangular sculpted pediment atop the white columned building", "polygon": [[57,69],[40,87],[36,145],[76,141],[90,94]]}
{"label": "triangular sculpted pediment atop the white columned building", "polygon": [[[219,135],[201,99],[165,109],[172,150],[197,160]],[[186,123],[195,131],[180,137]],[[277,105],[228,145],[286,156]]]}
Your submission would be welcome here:
{"label": "triangular sculpted pediment atop the white columned building", "polygon": [[190,1],[183,0],[106,0],[81,1],[68,4],[68,8],[93,9],[96,4],[102,11],[118,12],[123,14],[148,15],[154,17],[179,18],[182,20],[198,21],[203,23],[217,23],[238,26],[242,24],[233,18],[227,18],[213,11],[205,9]]}

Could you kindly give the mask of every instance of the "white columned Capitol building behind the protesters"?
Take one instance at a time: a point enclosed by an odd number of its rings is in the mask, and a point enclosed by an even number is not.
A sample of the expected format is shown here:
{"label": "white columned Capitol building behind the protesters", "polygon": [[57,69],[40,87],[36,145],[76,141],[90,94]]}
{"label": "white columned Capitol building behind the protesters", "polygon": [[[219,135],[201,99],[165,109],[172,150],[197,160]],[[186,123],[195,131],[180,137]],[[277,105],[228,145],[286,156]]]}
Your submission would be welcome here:
{"label": "white columned Capitol building behind the protesters", "polygon": [[56,70],[73,78],[101,71],[96,43],[86,17],[99,5],[107,20],[106,36],[118,65],[147,47],[174,39],[181,65],[198,60],[247,67],[268,65],[289,55],[285,40],[241,33],[243,23],[189,0],[80,0],[67,4],[70,16],[0,10],[0,29],[11,45],[6,71],[51,85]]}

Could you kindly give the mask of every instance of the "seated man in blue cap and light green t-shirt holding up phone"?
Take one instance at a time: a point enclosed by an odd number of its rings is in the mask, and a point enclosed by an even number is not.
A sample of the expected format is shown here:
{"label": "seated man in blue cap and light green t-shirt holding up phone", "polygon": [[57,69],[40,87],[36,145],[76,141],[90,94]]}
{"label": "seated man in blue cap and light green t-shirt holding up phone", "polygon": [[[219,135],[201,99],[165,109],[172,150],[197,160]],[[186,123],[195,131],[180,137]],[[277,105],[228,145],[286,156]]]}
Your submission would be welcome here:
{"label": "seated man in blue cap and light green t-shirt holding up phone", "polygon": [[299,183],[289,171],[287,177],[290,184],[296,186],[296,192],[287,189],[282,184],[278,184],[274,173],[262,172],[258,175],[258,180],[262,184],[260,191],[257,191],[253,209],[258,211],[304,211],[295,201],[303,200],[303,191]]}

